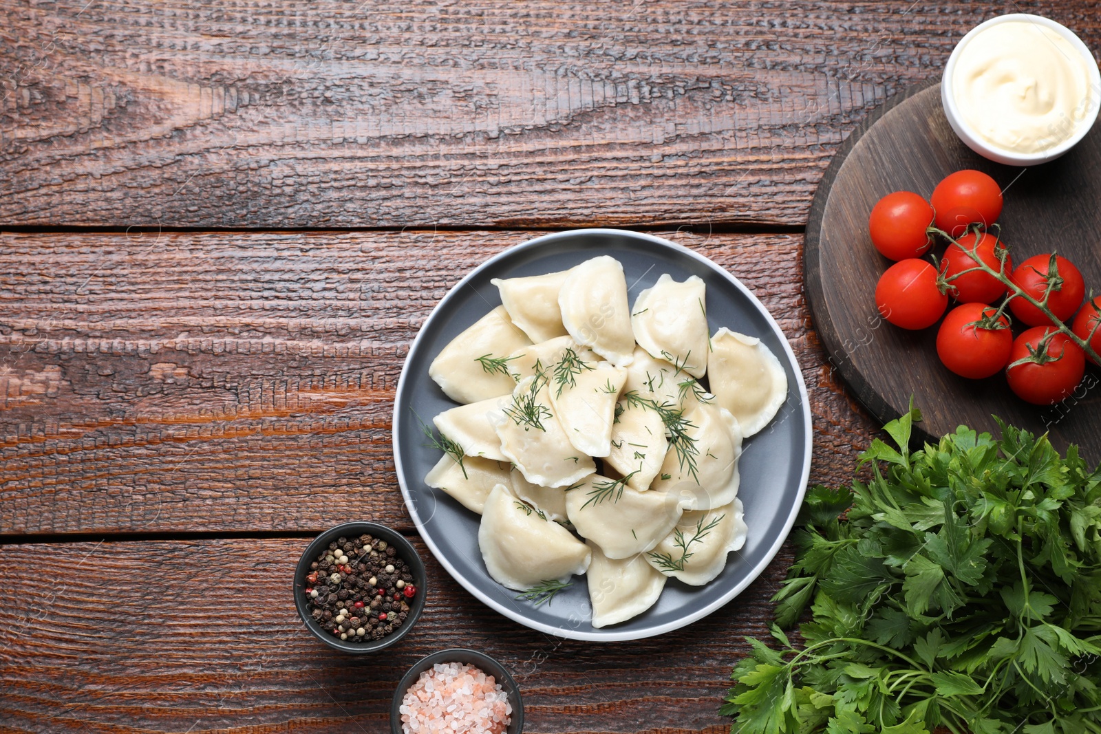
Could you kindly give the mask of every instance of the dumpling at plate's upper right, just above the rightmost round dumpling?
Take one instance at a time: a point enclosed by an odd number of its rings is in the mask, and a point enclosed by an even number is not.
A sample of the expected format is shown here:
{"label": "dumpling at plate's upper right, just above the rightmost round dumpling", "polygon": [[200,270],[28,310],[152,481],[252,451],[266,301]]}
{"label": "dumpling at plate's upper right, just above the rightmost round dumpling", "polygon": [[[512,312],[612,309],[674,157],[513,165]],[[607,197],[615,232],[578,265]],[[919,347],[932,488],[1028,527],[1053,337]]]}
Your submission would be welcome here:
{"label": "dumpling at plate's upper right, just above the rightmost round dumpling", "polygon": [[673,362],[695,377],[707,373],[707,310],[704,281],[677,283],[668,273],[634,300],[634,340],[652,357]]}

